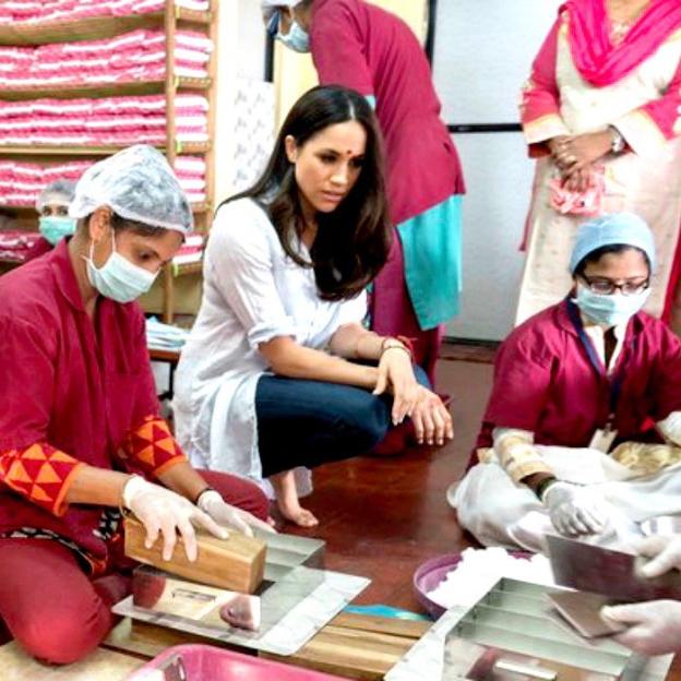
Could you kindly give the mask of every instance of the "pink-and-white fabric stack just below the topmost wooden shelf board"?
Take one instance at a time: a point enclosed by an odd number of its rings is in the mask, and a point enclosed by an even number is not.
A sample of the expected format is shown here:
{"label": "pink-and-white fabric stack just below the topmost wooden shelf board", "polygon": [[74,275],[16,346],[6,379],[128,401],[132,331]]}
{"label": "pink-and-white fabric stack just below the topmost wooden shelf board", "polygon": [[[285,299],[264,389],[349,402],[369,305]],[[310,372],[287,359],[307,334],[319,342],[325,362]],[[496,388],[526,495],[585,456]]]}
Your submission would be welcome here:
{"label": "pink-and-white fabric stack just below the topmost wooden shelf board", "polygon": [[[212,51],[212,40],[202,33],[179,31],[176,74],[207,77]],[[105,40],[0,47],[0,88],[148,82],[165,75],[163,31],[132,31]]]}

